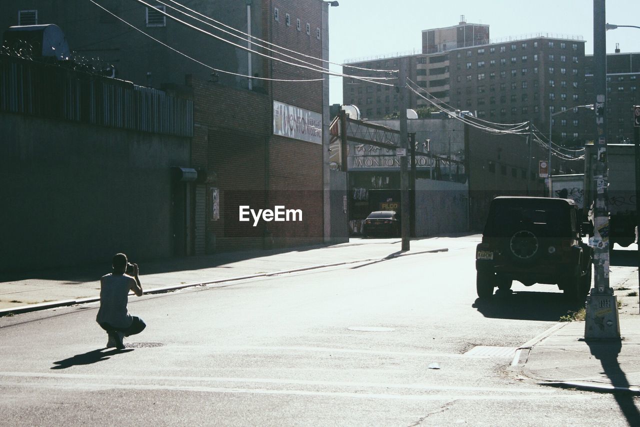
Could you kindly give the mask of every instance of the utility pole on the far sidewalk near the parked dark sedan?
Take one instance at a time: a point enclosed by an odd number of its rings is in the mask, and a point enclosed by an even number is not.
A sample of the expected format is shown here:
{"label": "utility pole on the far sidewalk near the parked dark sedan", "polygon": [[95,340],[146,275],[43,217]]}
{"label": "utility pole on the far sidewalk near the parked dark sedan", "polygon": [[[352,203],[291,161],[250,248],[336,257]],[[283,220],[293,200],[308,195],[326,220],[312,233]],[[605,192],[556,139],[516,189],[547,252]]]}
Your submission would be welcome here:
{"label": "utility pole on the far sidewalk near the parked dark sedan", "polygon": [[409,173],[406,165],[406,149],[408,148],[407,141],[407,124],[406,124],[406,105],[407,105],[407,90],[406,90],[406,60],[400,58],[400,71],[398,78],[397,88],[399,89],[399,108],[400,108],[400,148],[404,149],[404,156],[400,157],[400,221],[402,231],[402,250],[408,251],[410,249],[409,235],[410,235],[410,203],[409,203]]}

